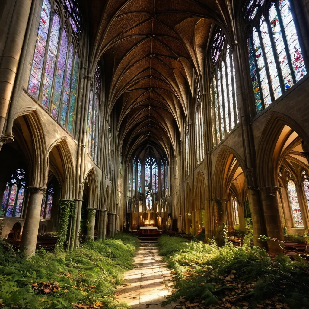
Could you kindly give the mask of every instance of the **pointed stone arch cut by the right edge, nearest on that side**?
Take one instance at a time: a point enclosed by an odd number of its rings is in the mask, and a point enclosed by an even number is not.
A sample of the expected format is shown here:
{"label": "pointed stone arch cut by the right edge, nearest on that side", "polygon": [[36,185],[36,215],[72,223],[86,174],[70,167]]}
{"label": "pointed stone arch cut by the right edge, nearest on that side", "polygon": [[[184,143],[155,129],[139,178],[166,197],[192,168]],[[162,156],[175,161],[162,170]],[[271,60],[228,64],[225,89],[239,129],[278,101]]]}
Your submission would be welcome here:
{"label": "pointed stone arch cut by the right edge, nearest on that side", "polygon": [[304,130],[290,117],[273,112],[265,124],[257,150],[256,171],[260,187],[279,186],[278,172],[286,156],[294,161],[308,162],[302,154],[306,149],[291,153],[300,144],[308,149],[309,138]]}

